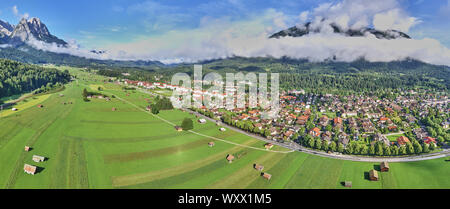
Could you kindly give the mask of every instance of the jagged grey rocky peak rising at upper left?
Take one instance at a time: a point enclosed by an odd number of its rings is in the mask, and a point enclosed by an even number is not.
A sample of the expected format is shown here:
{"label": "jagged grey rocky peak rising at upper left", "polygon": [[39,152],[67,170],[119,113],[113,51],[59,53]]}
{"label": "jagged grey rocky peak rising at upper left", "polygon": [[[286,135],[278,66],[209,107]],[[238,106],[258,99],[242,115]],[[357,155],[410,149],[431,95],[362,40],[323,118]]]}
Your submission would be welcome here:
{"label": "jagged grey rocky peak rising at upper left", "polygon": [[43,41],[46,43],[56,43],[60,46],[66,46],[67,42],[50,34],[47,26],[41,22],[39,18],[31,18],[29,20],[23,18],[19,24],[14,27],[10,38],[10,44],[17,46],[22,45],[32,39]]}

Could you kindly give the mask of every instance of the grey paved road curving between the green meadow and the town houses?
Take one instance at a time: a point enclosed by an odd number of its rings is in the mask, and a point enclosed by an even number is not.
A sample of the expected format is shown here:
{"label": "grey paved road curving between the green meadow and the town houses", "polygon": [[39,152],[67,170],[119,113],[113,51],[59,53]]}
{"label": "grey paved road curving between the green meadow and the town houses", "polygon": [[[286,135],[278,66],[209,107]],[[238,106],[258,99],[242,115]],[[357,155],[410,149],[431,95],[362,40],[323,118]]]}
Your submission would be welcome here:
{"label": "grey paved road curving between the green meadow and the town houses", "polygon": [[[147,94],[152,94],[152,95],[156,95],[153,92],[149,92],[149,91],[145,91],[145,90],[141,90],[141,92],[143,93],[147,93]],[[211,122],[216,123],[217,121],[209,118],[205,115],[202,115],[200,113],[194,112],[192,110],[189,109],[184,109],[187,112],[191,112],[199,117],[205,118]],[[354,155],[343,155],[340,153],[326,153],[326,152],[322,152],[322,151],[316,151],[316,150],[311,150],[309,148],[303,147],[297,143],[294,142],[290,142],[290,143],[281,143],[281,142],[276,142],[273,140],[269,140],[265,137],[262,137],[260,135],[256,135],[256,134],[252,134],[249,132],[246,132],[242,129],[227,125],[225,123],[221,123],[223,127],[226,127],[230,130],[245,134],[247,136],[268,142],[268,143],[272,143],[274,145],[278,145],[281,147],[285,147],[287,149],[291,149],[294,151],[299,151],[299,152],[304,152],[304,153],[308,153],[308,154],[312,154],[312,155],[317,155],[317,156],[322,156],[322,157],[328,157],[328,158],[334,158],[334,159],[339,159],[339,160],[350,160],[350,161],[361,161],[361,162],[412,162],[412,161],[422,161],[422,160],[431,160],[431,159],[437,159],[437,158],[444,158],[444,157],[449,157],[450,156],[450,149],[446,148],[441,152],[438,153],[430,153],[430,154],[422,154],[422,155],[416,155],[416,156],[406,156],[406,157],[363,157],[363,156],[354,156]],[[395,133],[395,134],[401,134],[400,133]]]}

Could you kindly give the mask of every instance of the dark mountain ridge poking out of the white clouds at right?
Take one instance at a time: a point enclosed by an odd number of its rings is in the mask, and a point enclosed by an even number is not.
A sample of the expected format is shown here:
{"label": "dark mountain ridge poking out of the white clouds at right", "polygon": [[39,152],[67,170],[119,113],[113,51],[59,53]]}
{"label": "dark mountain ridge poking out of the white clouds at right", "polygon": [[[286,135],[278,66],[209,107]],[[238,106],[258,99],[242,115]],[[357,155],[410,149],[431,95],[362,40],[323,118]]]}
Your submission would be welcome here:
{"label": "dark mountain ridge poking out of the white clouds at right", "polygon": [[[411,37],[407,34],[397,31],[397,30],[386,30],[386,31],[380,31],[373,28],[361,28],[361,29],[342,29],[337,24],[330,23],[328,24],[334,33],[344,34],[346,36],[352,36],[352,37],[359,37],[359,36],[365,36],[367,34],[372,34],[378,39],[396,39],[396,38],[407,38],[410,39]],[[291,28],[288,28],[286,30],[282,30],[280,32],[277,32],[270,36],[270,38],[281,38],[281,37],[301,37],[310,33],[320,33],[323,32],[325,29],[323,28],[323,24],[315,25],[311,22],[308,22],[302,26],[294,26]]]}

